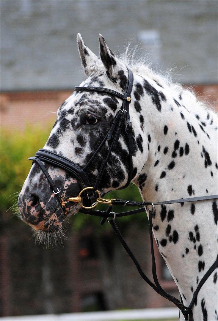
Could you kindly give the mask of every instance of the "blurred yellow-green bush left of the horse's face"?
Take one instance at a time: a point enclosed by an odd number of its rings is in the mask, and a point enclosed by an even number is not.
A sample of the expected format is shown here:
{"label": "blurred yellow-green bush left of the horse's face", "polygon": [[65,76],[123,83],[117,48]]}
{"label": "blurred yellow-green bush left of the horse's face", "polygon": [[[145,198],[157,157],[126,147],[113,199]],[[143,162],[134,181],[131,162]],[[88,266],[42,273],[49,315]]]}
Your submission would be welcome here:
{"label": "blurred yellow-green bush left of the horse's face", "polygon": [[11,195],[21,190],[32,165],[28,157],[34,156],[46,143],[51,126],[45,127],[27,126],[24,131],[1,130],[1,211],[12,206],[14,198]]}

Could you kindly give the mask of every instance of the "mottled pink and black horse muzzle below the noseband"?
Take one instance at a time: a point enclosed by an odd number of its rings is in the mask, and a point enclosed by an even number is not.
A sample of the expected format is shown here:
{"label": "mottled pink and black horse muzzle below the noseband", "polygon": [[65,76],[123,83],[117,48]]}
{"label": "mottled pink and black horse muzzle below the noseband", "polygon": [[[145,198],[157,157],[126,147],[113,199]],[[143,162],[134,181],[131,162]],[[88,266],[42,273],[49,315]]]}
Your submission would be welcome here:
{"label": "mottled pink and black horse muzzle below the noseband", "polygon": [[37,164],[33,164],[23,184],[18,198],[18,207],[25,223],[35,230],[55,233],[62,228],[66,217],[78,212],[80,206],[66,199],[77,196],[80,186],[77,179],[69,177],[64,170],[46,165],[51,178],[61,191],[67,209],[65,216],[47,178],[36,166]]}

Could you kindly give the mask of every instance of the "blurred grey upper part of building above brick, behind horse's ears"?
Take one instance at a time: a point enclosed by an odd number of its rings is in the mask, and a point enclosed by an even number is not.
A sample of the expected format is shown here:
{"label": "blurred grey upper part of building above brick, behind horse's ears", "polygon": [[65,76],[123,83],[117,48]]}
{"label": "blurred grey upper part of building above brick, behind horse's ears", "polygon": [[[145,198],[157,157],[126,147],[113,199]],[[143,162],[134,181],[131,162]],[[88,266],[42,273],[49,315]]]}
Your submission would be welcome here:
{"label": "blurred grey upper part of building above brick, behind horse's ears", "polygon": [[84,79],[77,32],[98,53],[99,33],[122,51],[143,30],[157,41],[139,53],[152,50],[163,70],[186,66],[175,80],[216,83],[216,0],[1,0],[1,89],[73,88]]}

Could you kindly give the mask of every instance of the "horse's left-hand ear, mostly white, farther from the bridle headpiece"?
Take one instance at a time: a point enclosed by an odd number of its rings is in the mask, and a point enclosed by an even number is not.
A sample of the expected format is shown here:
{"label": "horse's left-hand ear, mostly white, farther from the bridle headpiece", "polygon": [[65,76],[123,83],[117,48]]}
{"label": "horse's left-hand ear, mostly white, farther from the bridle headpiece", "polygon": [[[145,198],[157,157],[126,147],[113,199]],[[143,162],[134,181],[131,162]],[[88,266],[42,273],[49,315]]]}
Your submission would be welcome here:
{"label": "horse's left-hand ear, mostly white, farther from the bridle headpiece", "polygon": [[91,71],[94,71],[93,68],[92,70],[89,69],[90,65],[97,64],[97,62],[99,61],[99,58],[95,56],[95,54],[88,47],[86,47],[80,33],[77,33],[76,40],[77,40],[77,46],[78,46],[82,66],[84,68],[85,74],[87,74],[88,76]]}

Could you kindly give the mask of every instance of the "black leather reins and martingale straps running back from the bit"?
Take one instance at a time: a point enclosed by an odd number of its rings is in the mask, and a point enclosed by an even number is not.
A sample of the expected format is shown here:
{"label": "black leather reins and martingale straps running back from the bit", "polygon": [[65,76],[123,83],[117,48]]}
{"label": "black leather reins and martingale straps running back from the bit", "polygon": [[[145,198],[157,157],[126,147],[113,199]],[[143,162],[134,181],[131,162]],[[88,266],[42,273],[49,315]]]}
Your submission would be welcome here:
{"label": "black leather reins and martingale straps running back from the bit", "polygon": [[[153,223],[152,223],[152,220],[153,220],[153,215],[155,213],[154,205],[199,202],[199,201],[205,201],[205,200],[217,199],[217,198],[218,198],[218,195],[207,195],[207,196],[197,196],[197,197],[190,197],[190,198],[180,198],[177,200],[154,202],[154,203],[152,203],[152,202],[135,202],[135,201],[126,201],[126,200],[121,200],[121,199],[114,199],[114,200],[112,200],[111,205],[108,206],[106,211],[93,210],[92,212],[89,212],[89,214],[102,217],[102,220],[100,221],[100,225],[103,225],[106,221],[108,221],[110,223],[116,236],[118,237],[122,246],[126,250],[127,254],[132,259],[133,263],[135,264],[139,274],[144,279],[144,281],[148,285],[150,285],[153,288],[153,290],[156,291],[158,294],[160,294],[162,297],[164,297],[165,299],[168,299],[170,302],[174,303],[179,308],[179,310],[182,312],[182,314],[184,315],[185,320],[193,321],[194,320],[193,313],[192,313],[193,304],[194,304],[197,294],[200,291],[203,284],[206,282],[206,280],[211,275],[211,273],[213,273],[213,271],[218,267],[218,257],[215,260],[215,262],[213,263],[213,265],[211,265],[211,267],[205,273],[205,275],[203,276],[201,281],[198,283],[198,286],[193,294],[192,300],[191,300],[188,307],[186,307],[183,304],[182,299],[180,301],[179,299],[175,298],[174,296],[171,296],[169,293],[164,291],[164,289],[161,287],[161,285],[158,281],[157,272],[156,272],[155,256],[154,256],[154,248],[153,248],[153,231],[152,231]],[[111,212],[112,205],[140,206],[142,208],[138,208],[138,209],[135,209],[132,211],[120,212],[120,213],[115,214],[115,212]],[[117,224],[115,223],[116,217],[123,217],[123,216],[127,216],[127,215],[132,215],[132,214],[144,212],[144,211],[146,211],[145,206],[149,207],[149,205],[152,205],[152,207],[153,207],[153,211],[148,210],[148,213],[149,213],[149,220],[148,221],[149,221],[149,236],[150,236],[151,255],[152,255],[152,275],[153,275],[153,280],[154,280],[155,284],[143,272],[139,262],[137,261],[136,257],[132,253],[131,249],[126,244],[126,241],[124,240],[122,234],[120,233],[120,231],[118,229]],[[81,209],[80,212],[86,213],[85,211],[83,211],[83,209]],[[112,219],[109,220],[109,218],[112,218]]]}

